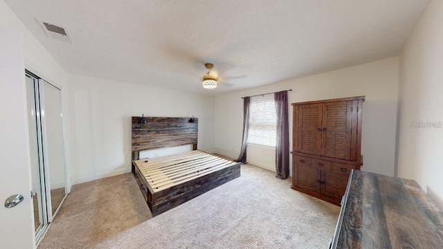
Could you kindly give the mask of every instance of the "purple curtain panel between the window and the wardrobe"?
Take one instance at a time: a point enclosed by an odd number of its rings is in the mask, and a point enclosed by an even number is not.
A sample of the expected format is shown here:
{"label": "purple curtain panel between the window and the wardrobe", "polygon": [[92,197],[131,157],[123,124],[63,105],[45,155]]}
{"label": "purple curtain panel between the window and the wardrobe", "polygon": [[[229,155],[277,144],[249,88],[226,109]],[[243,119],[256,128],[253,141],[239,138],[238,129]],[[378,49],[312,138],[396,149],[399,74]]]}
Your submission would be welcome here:
{"label": "purple curtain panel between the window and the wardrobe", "polygon": [[[277,113],[277,140],[275,142],[275,177],[285,179],[289,176],[289,124],[288,92],[274,93],[275,113]],[[245,154],[246,155],[246,154]]]}

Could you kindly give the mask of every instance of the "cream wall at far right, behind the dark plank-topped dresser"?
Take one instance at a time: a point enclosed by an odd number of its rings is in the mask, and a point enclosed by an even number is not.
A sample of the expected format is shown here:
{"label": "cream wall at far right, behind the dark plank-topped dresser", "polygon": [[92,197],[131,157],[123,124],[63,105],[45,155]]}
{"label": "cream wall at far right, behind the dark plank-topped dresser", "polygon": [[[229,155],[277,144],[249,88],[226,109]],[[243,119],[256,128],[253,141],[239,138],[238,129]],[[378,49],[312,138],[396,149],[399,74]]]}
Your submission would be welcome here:
{"label": "cream wall at far right, behind the dark plank-topped dresser", "polygon": [[415,179],[443,210],[443,1],[432,1],[399,57],[399,177]]}

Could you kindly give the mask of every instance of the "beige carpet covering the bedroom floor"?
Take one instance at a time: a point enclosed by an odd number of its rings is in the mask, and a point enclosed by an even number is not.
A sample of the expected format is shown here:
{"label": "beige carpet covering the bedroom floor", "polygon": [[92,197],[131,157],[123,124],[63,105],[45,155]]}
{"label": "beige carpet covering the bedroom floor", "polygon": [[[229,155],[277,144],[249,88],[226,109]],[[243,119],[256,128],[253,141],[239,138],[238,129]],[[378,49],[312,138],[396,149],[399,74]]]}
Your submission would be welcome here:
{"label": "beige carpet covering the bedroom floor", "polygon": [[242,176],[152,218],[132,174],[75,185],[44,248],[327,248],[340,210],[242,165]]}

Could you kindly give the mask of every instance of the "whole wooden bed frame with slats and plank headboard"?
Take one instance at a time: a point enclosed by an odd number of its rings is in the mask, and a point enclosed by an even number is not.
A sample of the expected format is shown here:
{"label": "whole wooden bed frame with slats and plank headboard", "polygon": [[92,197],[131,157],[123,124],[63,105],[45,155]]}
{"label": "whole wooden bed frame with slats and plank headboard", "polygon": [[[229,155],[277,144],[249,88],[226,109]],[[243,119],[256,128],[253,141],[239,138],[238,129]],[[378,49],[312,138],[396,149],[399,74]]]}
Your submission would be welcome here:
{"label": "whole wooden bed frame with slats and plank headboard", "polygon": [[[195,151],[198,138],[197,118],[145,117],[147,123],[140,124],[141,118],[132,117],[132,172],[152,216],[168,211],[240,176],[240,163],[201,151],[190,152],[191,159],[181,161],[182,154],[165,156],[163,161],[161,158],[141,160],[139,152],[147,149],[192,145]],[[179,165],[180,162],[197,160],[192,158],[197,154],[204,154],[208,159],[199,159],[197,163],[186,163],[184,167],[183,164]],[[217,166],[217,163],[220,165]],[[212,165],[216,165],[218,169],[209,169]],[[196,168],[191,169],[191,167]],[[180,172],[179,168],[184,170]]]}

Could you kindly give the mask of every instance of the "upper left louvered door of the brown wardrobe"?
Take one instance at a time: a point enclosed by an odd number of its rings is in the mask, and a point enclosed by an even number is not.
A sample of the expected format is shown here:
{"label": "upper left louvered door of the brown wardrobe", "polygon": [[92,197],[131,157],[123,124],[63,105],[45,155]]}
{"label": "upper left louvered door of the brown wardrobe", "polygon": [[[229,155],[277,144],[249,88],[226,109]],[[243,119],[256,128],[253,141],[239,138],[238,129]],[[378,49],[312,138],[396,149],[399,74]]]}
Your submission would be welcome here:
{"label": "upper left louvered door of the brown wardrobe", "polygon": [[322,142],[322,104],[302,104],[294,107],[295,150],[320,155]]}

